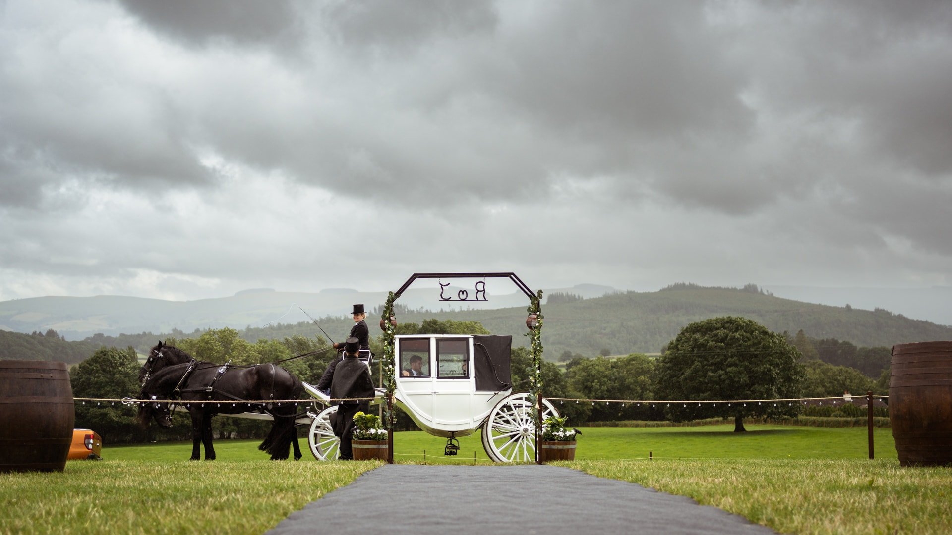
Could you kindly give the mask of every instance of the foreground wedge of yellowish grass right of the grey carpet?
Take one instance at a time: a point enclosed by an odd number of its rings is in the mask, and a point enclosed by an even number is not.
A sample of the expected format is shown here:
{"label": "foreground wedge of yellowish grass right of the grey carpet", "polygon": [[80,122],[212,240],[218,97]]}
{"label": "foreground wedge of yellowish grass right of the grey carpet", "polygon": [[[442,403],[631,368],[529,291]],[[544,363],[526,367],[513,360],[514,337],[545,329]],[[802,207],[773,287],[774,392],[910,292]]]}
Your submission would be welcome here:
{"label": "foreground wedge of yellowish grass right of the grey carpet", "polygon": [[781,533],[948,533],[952,468],[893,459],[663,459],[556,463],[689,496]]}

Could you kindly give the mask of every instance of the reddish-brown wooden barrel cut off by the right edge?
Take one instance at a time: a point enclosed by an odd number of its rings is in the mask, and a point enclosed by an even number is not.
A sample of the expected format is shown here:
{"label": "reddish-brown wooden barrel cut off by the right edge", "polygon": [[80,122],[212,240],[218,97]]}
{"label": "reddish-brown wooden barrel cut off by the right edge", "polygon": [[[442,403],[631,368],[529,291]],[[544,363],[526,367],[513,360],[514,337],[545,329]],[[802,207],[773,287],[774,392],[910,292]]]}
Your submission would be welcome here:
{"label": "reddish-brown wooden barrel cut off by the right edge", "polygon": [[900,465],[952,465],[952,342],[893,346],[890,373]]}

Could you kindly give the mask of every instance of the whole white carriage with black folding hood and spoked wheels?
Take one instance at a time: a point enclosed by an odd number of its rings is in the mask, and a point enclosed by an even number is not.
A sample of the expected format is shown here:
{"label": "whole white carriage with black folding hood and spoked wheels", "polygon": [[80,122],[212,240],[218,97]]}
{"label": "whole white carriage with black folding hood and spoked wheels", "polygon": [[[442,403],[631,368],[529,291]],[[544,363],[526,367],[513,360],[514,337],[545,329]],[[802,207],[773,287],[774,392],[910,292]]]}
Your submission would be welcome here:
{"label": "whole white carriage with black folding hood and spoked wheels", "polygon": [[[511,344],[511,336],[497,335],[396,336],[394,406],[427,433],[447,440],[481,430],[486,454],[495,462],[534,460],[532,405],[526,393],[512,393]],[[369,366],[367,357],[361,358]],[[420,363],[417,375],[412,361]],[[327,404],[327,394],[307,384],[305,389],[317,400],[315,406]],[[371,403],[380,403],[383,396],[384,390],[377,389]],[[330,414],[336,410],[327,406],[297,420],[309,424],[307,443],[321,461],[338,456],[340,440],[330,427]],[[542,419],[553,415],[558,411],[544,399]]]}

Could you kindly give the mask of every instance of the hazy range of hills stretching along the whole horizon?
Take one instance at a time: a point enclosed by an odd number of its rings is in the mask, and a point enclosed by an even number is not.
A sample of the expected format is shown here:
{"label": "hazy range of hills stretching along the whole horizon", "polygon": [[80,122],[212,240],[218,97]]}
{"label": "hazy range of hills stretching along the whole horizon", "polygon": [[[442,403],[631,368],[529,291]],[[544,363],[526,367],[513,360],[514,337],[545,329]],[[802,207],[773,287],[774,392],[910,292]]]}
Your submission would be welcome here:
{"label": "hazy range of hills stretching along the whole horizon", "polygon": [[[598,287],[596,291],[603,288]],[[590,288],[558,288],[546,293],[564,292],[582,297],[585,289]],[[243,330],[242,335],[252,342],[259,338],[280,339],[291,334],[319,334],[307,318],[302,319],[303,313],[297,308],[301,306],[318,318],[331,336],[341,336],[352,325],[348,318],[351,304],[364,302],[367,310],[373,310],[375,303],[372,299],[383,297],[383,292],[347,293],[338,296],[337,301],[323,304],[304,302],[305,298],[316,295],[319,294],[242,293],[231,298],[185,303],[108,296],[37,298],[34,303],[27,303],[27,307],[13,308],[10,304],[22,305],[30,300],[0,303],[0,323],[9,324],[16,317],[27,316],[34,318],[34,321],[42,321],[37,319],[40,317],[58,319],[58,326],[89,325],[95,322],[119,325],[114,327],[113,333],[96,330],[109,336],[95,336],[89,340],[119,347],[149,347],[156,340],[165,339],[169,333],[173,333],[172,329],[179,329],[173,335],[182,337],[188,336],[187,333],[195,328],[233,327]],[[397,302],[407,307],[398,313],[398,322],[420,323],[433,317],[479,321],[490,332],[513,335],[514,345],[526,345],[527,338],[523,334],[526,333],[527,300],[524,294],[490,295],[489,302],[483,304],[488,306],[512,302],[509,307],[460,310],[460,303],[452,303],[455,306],[452,310],[419,310],[420,307],[434,308],[434,302],[446,307],[450,305],[439,302],[437,295],[438,290],[432,288],[407,290]],[[470,307],[474,304],[462,305]],[[115,313],[121,315],[111,317],[104,314],[108,307],[115,307]],[[333,312],[322,314],[321,310],[327,309]],[[99,315],[93,315],[91,311]],[[75,315],[70,316],[70,313]],[[80,313],[86,315],[81,316]],[[787,331],[791,335],[803,329],[806,335],[816,339],[836,338],[858,347],[891,347],[909,342],[952,340],[952,327],[910,319],[882,308],[863,310],[783,299],[754,285],[744,288],[672,285],[655,292],[613,291],[600,297],[589,296],[582,300],[544,304],[543,314],[543,343],[548,359],[556,359],[564,351],[595,355],[603,348],[611,354],[657,352],[685,325],[725,315],[743,316],[773,331]],[[117,318],[125,320],[124,323],[119,323]],[[161,319],[161,322],[156,318]],[[174,318],[180,321],[181,318],[188,318],[192,323],[174,324]],[[379,334],[377,320],[376,317],[368,318],[373,336]],[[41,328],[28,327],[21,332],[43,332],[50,328],[38,327]],[[85,338],[77,336],[75,332],[68,334],[68,329],[61,329],[63,327],[55,328],[58,334],[68,339]],[[129,333],[129,336],[114,338],[119,332]],[[143,332],[149,332],[149,335],[133,336]]]}

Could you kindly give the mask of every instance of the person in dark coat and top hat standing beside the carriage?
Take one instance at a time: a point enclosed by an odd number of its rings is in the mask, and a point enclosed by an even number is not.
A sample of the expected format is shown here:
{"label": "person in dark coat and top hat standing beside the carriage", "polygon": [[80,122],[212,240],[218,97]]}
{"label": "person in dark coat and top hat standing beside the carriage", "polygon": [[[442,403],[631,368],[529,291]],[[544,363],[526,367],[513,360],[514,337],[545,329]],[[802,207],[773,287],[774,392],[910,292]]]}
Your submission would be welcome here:
{"label": "person in dark coat and top hat standing beside the carriage", "polygon": [[[358,359],[360,341],[357,338],[347,338],[344,345],[344,358],[334,368],[334,375],[330,382],[331,399],[346,398],[373,398],[375,395],[373,381],[370,380],[370,368]],[[353,435],[353,417],[359,411],[367,412],[370,401],[347,400],[337,402],[337,412],[332,415],[331,426],[334,435],[341,439],[341,459],[353,459],[350,447],[350,437]]]}

